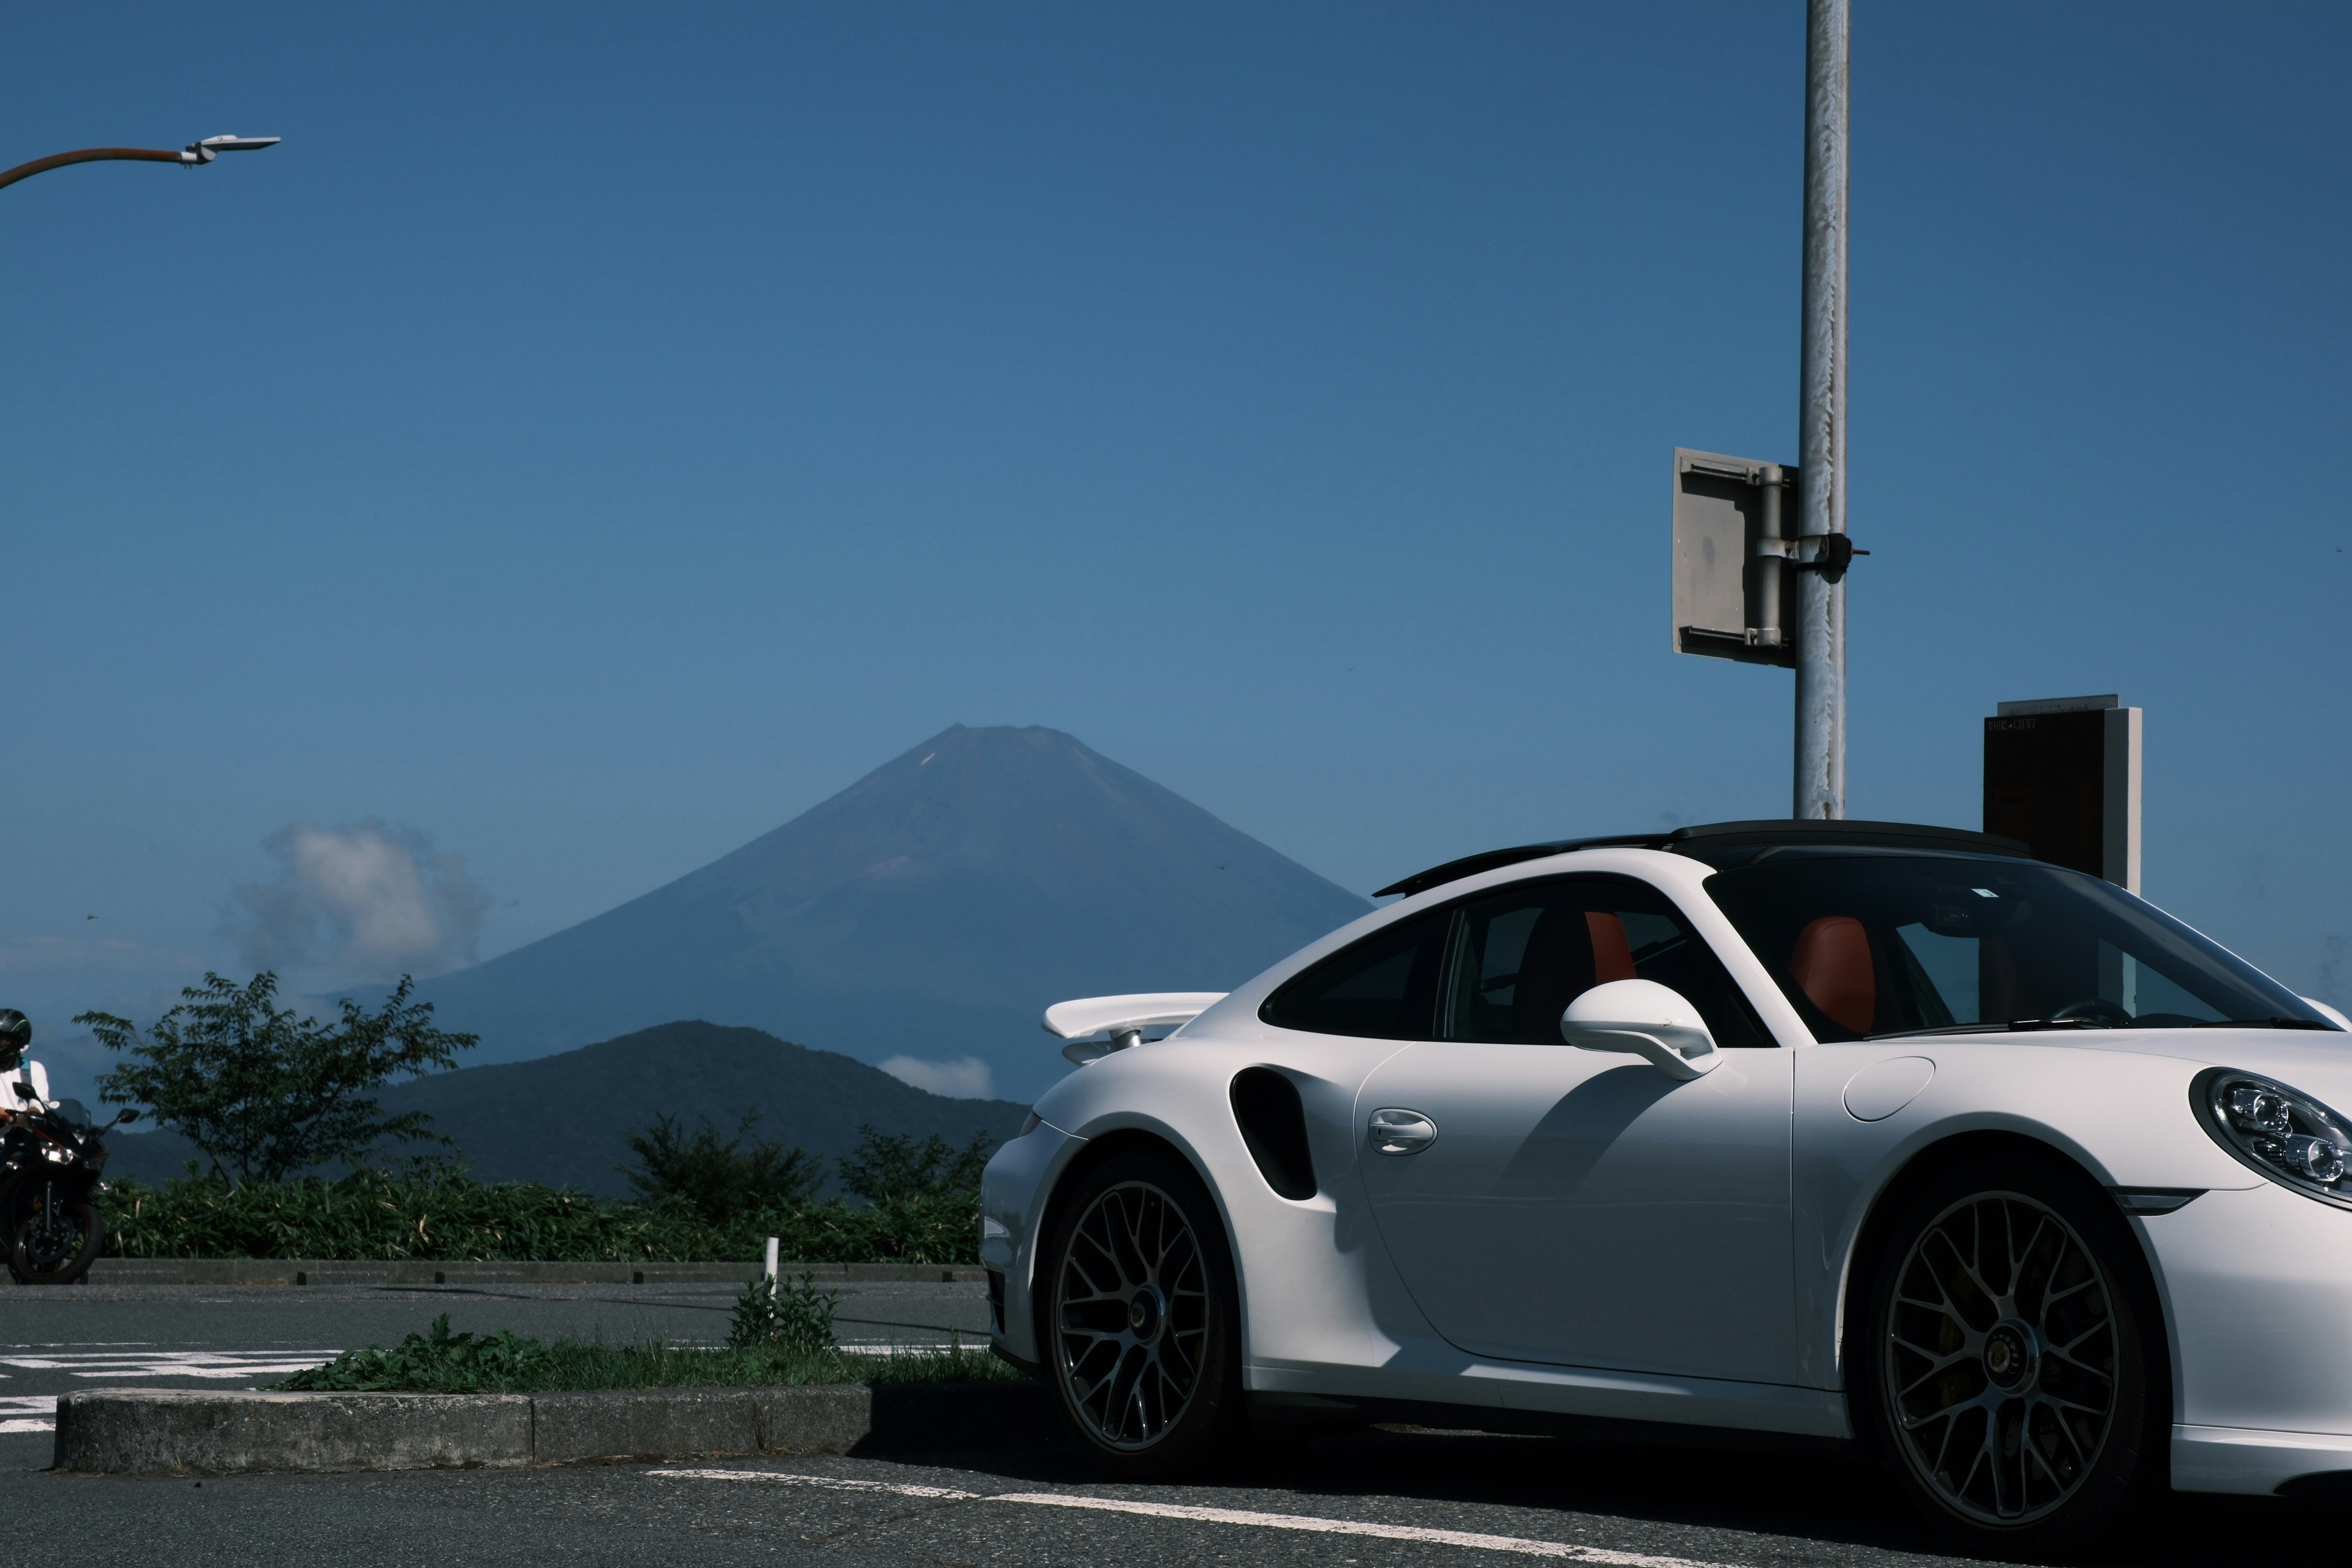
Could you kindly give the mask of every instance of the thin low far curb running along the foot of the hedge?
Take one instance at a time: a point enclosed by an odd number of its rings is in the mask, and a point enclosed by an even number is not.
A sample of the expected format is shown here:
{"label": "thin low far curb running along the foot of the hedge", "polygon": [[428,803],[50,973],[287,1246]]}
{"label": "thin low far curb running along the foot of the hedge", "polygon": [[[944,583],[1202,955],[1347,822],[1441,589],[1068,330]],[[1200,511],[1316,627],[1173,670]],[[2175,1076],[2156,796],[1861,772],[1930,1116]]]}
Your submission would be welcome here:
{"label": "thin low far curb running along the foot of the hedge", "polygon": [[[976,1284],[988,1272],[948,1262],[786,1262],[818,1281]],[[741,1286],[760,1262],[468,1262],[395,1258],[339,1262],[329,1258],[99,1258],[94,1286]]]}

